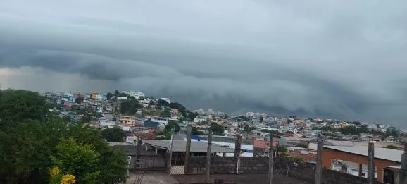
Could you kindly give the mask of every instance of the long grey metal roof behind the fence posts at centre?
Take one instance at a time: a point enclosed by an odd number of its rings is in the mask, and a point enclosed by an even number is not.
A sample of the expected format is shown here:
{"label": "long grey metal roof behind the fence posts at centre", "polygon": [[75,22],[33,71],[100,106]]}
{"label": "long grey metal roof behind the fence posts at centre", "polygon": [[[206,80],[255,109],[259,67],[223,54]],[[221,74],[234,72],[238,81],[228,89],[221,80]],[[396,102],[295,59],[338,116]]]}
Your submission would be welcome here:
{"label": "long grey metal roof behind the fence posts at centre", "polygon": [[[161,147],[164,149],[170,149],[170,140],[143,140],[146,144]],[[173,141],[173,152],[185,152],[185,146],[187,142],[184,140],[174,140]],[[208,143],[207,142],[191,142],[191,152],[206,152]],[[212,152],[220,153],[234,153],[234,149],[227,148],[227,146],[212,144]]]}

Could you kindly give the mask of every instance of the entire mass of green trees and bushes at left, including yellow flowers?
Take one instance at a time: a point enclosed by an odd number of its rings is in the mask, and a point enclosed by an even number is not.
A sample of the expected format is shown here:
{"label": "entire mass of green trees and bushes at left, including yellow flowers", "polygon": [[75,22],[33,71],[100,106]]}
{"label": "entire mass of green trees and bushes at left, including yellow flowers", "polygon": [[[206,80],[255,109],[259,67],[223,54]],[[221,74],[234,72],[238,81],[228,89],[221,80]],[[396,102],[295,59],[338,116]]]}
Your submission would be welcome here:
{"label": "entire mass of green trees and bushes at left, including yellow flowers", "polygon": [[87,123],[69,123],[48,109],[37,92],[0,91],[0,183],[125,180],[123,150]]}

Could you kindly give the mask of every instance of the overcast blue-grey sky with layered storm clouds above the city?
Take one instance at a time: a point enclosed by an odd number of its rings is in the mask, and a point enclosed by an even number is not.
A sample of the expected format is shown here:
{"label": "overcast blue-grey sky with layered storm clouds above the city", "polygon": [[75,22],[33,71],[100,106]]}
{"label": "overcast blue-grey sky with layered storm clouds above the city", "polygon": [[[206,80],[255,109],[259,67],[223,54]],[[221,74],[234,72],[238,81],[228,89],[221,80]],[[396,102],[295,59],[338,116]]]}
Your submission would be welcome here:
{"label": "overcast blue-grey sky with layered storm clouds above the city", "polygon": [[407,1],[0,1],[0,86],[407,128]]}

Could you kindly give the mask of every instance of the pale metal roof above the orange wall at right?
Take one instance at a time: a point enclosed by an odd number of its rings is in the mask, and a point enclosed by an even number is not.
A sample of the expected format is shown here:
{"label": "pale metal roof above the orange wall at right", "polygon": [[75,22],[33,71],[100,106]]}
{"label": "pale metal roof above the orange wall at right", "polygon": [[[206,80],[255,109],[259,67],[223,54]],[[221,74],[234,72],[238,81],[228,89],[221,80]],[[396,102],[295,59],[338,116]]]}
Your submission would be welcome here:
{"label": "pale metal roof above the orange wall at right", "polygon": [[[368,147],[348,147],[348,146],[323,146],[328,149],[334,149],[341,152],[348,152],[352,154],[359,154],[368,157]],[[396,149],[378,148],[375,147],[375,158],[384,159],[388,161],[396,161],[401,163],[401,154],[403,151]]]}

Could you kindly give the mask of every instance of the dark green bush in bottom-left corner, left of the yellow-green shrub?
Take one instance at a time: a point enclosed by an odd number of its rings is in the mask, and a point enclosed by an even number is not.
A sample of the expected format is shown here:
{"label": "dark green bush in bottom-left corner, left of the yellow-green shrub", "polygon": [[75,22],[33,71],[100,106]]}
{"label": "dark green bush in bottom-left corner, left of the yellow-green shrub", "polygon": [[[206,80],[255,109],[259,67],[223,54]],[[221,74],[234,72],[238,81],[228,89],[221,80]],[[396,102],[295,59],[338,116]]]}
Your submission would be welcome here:
{"label": "dark green bush in bottom-left corner, left of the yellow-green shrub", "polygon": [[[0,129],[0,183],[44,183],[50,155],[56,151],[66,124],[50,120],[15,122]],[[9,178],[9,179],[7,179]]]}

